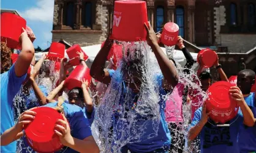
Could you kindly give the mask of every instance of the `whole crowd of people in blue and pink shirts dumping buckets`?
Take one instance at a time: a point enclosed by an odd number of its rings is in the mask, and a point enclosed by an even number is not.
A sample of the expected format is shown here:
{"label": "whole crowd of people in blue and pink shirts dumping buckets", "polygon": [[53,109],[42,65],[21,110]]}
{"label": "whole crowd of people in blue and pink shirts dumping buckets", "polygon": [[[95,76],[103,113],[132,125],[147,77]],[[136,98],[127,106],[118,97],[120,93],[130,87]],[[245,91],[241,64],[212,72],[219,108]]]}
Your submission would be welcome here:
{"label": "whole crowd of people in blue and pink shirts dumping buckets", "polygon": [[[81,87],[69,91],[65,89],[65,80],[72,65],[66,58],[61,59],[56,72],[58,82],[46,81],[51,84],[47,85],[52,87],[50,91],[40,83],[42,79],[52,80],[51,69],[45,66],[47,55],[35,61],[33,34],[28,35],[23,29],[22,49],[14,63],[12,51],[1,42],[1,152],[17,152],[19,145],[20,152],[35,152],[29,148],[23,132],[24,126],[36,116],[35,107],[51,107],[63,116],[55,125],[55,133],[65,146],[59,152],[256,152],[256,96],[250,91],[255,84],[255,72],[244,69],[238,73],[237,86],[230,88],[229,93],[237,102],[239,112],[225,123],[229,126],[217,126],[219,123],[209,118],[203,97],[213,80],[201,59],[197,74],[191,75],[196,62],[184,46],[183,38],[178,37],[176,46],[187,60],[182,71],[185,75],[180,76],[178,63],[168,58],[159,46],[160,35],[155,34],[150,24],[145,23],[145,29],[148,34],[145,44],[156,55],[159,73],[149,71],[141,48],[135,48],[134,53],[123,51],[122,59],[110,62],[105,68],[108,53],[115,43],[109,34],[91,65],[93,80],[81,80]],[[87,66],[83,52],[77,54],[80,65]],[[218,58],[214,67],[220,79],[228,82]],[[39,77],[42,71],[43,78]],[[200,88],[191,90],[187,79]],[[17,94],[19,98],[15,98]],[[36,101],[32,95],[36,96]],[[184,123],[184,105],[191,107],[189,126]],[[92,129],[93,124],[98,124],[97,128]],[[101,144],[97,142],[99,137],[92,135],[93,130],[104,133],[100,135],[104,140]],[[17,144],[17,140],[23,143]],[[110,149],[102,149],[105,144],[110,144]]]}

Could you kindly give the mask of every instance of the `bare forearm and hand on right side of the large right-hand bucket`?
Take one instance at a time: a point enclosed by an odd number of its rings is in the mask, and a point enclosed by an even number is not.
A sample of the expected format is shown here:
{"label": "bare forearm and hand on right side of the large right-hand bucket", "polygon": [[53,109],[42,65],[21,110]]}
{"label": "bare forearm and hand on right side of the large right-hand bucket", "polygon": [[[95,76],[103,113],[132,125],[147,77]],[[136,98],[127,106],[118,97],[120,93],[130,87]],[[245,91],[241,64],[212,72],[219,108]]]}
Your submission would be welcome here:
{"label": "bare forearm and hand on right side of the large right-hand bucket", "polygon": [[237,102],[242,110],[244,124],[249,127],[254,126],[254,114],[252,113],[252,110],[250,110],[249,106],[246,104],[246,101],[244,101],[243,93],[241,92],[241,90],[238,87],[231,87],[229,92],[232,96],[232,99]]}

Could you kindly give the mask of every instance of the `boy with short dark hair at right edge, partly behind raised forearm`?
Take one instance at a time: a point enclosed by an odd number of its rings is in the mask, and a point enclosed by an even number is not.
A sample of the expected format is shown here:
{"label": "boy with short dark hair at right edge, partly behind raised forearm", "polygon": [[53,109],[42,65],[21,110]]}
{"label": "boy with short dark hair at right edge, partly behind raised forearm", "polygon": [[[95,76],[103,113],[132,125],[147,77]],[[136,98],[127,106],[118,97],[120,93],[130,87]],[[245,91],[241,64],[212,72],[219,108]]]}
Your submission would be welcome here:
{"label": "boy with short dark hair at right edge, partly behind raised forearm", "polygon": [[[244,100],[254,114],[256,123],[256,95],[250,93],[250,88],[255,84],[255,72],[244,69],[238,73],[237,85],[243,93]],[[241,124],[238,133],[238,144],[240,153],[256,152],[256,126]]]}

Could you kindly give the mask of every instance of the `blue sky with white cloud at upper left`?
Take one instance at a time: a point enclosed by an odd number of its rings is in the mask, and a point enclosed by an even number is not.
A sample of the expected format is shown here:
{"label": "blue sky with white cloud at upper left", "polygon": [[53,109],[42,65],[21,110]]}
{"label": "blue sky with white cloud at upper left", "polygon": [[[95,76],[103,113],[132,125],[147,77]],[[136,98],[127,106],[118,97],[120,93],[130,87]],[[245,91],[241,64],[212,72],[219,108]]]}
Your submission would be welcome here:
{"label": "blue sky with white cloud at upper left", "polygon": [[36,40],[34,47],[46,49],[51,43],[54,0],[0,0],[1,9],[17,10],[31,27]]}

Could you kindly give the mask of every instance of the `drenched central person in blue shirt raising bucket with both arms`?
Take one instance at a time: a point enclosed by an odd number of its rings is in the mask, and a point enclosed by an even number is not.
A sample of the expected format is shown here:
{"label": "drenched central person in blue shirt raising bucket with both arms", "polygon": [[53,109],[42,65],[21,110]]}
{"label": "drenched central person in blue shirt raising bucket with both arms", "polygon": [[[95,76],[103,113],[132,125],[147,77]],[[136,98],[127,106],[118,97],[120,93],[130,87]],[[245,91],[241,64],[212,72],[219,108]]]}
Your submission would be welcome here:
{"label": "drenched central person in blue shirt raising bucket with both arms", "polygon": [[[119,137],[124,137],[124,141],[127,141],[127,137],[138,137],[138,135],[141,135],[139,139],[135,138],[135,142],[122,144],[124,146],[121,146],[121,152],[128,152],[128,150],[132,153],[135,152],[168,152],[168,149],[170,148],[170,131],[168,130],[167,123],[165,121],[165,115],[164,115],[164,107],[165,107],[165,99],[164,95],[166,95],[168,92],[170,92],[177,84],[178,84],[178,73],[176,72],[175,66],[171,63],[171,61],[167,58],[167,56],[164,54],[162,49],[160,48],[159,44],[157,43],[157,37],[152,29],[152,27],[146,26],[145,28],[148,32],[148,44],[151,46],[152,51],[156,55],[157,62],[159,63],[161,73],[154,74],[154,79],[150,84],[152,83],[154,85],[155,90],[157,90],[157,94],[159,94],[159,102],[157,102],[156,105],[159,105],[159,110],[157,109],[157,113],[159,113],[160,121],[159,124],[154,125],[157,127],[157,133],[154,130],[153,127],[153,119],[154,114],[152,114],[152,107],[149,104],[145,104],[143,106],[143,109],[141,111],[145,112],[143,114],[133,113],[135,111],[135,107],[141,107],[140,105],[140,99],[141,99],[141,92],[145,93],[148,91],[148,86],[145,86],[145,82],[149,82],[149,78],[147,78],[148,69],[145,68],[146,61],[143,61],[143,59],[140,57],[142,54],[140,49],[134,49],[134,54],[123,54],[123,59],[120,63],[121,66],[115,71],[113,69],[104,69],[105,67],[105,61],[108,56],[108,52],[111,49],[111,46],[113,44],[113,40],[110,39],[110,37],[107,38],[105,41],[104,46],[102,49],[100,49],[99,53],[97,54],[96,58],[94,59],[94,62],[91,66],[90,74],[94,79],[98,80],[99,82],[103,82],[104,84],[109,85],[110,81],[113,80],[113,84],[111,85],[110,92],[113,90],[115,92],[118,90],[118,88],[121,92],[121,94],[116,94],[116,98],[113,99],[119,99],[118,104],[119,107],[121,107],[121,111],[123,113],[120,113],[118,110],[114,110],[112,119],[113,123],[110,124],[113,125],[113,144],[118,143],[115,142],[119,141]],[[109,34],[111,35],[111,34]],[[134,44],[136,45],[136,44]],[[129,52],[129,51],[127,51]],[[125,53],[125,52],[123,52]],[[126,60],[127,59],[127,60]],[[144,63],[143,63],[144,62]],[[121,82],[119,85],[116,85]],[[146,90],[146,91],[141,91]],[[126,93],[130,93],[129,96]],[[126,95],[129,97],[129,99],[126,99]],[[106,94],[105,94],[106,97]],[[113,102],[112,101],[112,102]],[[105,102],[103,101],[102,104],[105,105]],[[115,101],[116,102],[116,101]],[[111,105],[111,104],[110,104]],[[157,108],[158,108],[157,107]],[[103,109],[103,108],[102,108]],[[127,129],[126,126],[129,125],[129,121],[127,121],[126,118],[128,118],[128,113],[131,115],[131,113],[134,114],[134,119],[137,121],[135,126],[141,126],[146,124],[144,127],[145,130],[141,133],[133,132],[130,129]],[[122,119],[119,119],[122,118]],[[124,121],[125,120],[125,121]],[[124,124],[126,124],[126,126]],[[141,128],[141,127],[140,127]],[[124,133],[129,133],[127,135],[122,135],[121,132],[118,132],[120,129],[127,129],[127,131],[124,131]],[[140,129],[135,129],[140,130]],[[115,134],[114,134],[115,133]],[[153,133],[156,133],[156,135],[152,136]],[[119,135],[120,134],[120,135]],[[132,135],[132,136],[130,136]],[[147,137],[148,136],[148,137]],[[107,137],[106,137],[107,138]],[[138,141],[140,140],[140,141]],[[116,146],[115,146],[116,148]],[[117,149],[119,146],[117,146]],[[111,147],[111,151],[115,152],[115,150]],[[120,151],[120,150],[118,150]]]}

